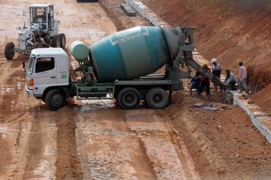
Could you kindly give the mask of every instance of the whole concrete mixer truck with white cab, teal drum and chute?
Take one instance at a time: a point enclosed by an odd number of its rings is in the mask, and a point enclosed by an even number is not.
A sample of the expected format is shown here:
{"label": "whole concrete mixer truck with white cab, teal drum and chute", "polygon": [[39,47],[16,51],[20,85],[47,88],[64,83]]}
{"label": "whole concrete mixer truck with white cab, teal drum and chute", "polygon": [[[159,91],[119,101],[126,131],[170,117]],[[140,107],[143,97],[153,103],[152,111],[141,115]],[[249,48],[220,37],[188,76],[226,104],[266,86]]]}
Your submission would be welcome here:
{"label": "whole concrete mixer truck with white cab, teal drum and chute", "polygon": [[[25,57],[29,59],[25,69],[26,93],[41,99],[52,111],[65,106],[66,100],[73,97],[115,99],[125,110],[137,108],[141,101],[152,109],[163,109],[171,103],[172,92],[183,89],[180,78],[191,76],[190,67],[225,89],[193,59],[194,29],[134,27],[89,47],[75,41],[70,52],[79,63],[74,71],[82,72],[80,79],[71,79],[69,56],[62,48],[33,49]],[[165,74],[153,74],[164,65]],[[182,70],[185,66],[187,71]]]}

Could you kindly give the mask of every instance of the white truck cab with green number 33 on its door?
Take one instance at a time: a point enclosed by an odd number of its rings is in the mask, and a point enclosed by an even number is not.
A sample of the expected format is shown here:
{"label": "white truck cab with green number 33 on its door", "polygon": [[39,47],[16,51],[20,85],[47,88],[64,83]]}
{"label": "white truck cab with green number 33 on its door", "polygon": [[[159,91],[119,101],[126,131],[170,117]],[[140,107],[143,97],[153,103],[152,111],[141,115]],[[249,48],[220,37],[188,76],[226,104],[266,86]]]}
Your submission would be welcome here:
{"label": "white truck cab with green number 33 on its door", "polygon": [[69,70],[70,59],[62,48],[33,49],[26,69],[28,96],[34,96],[45,102],[46,94],[51,88],[65,89],[69,85]]}

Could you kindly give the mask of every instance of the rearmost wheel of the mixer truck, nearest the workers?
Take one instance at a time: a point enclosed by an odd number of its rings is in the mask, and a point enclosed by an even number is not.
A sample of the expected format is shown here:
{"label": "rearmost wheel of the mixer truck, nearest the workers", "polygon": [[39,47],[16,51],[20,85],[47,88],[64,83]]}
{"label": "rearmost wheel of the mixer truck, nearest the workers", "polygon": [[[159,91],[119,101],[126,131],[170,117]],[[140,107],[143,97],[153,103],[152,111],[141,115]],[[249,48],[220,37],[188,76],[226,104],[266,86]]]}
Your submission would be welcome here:
{"label": "rearmost wheel of the mixer truck, nearest the workers", "polygon": [[169,103],[169,95],[165,89],[154,87],[147,93],[146,103],[152,109],[164,109]]}

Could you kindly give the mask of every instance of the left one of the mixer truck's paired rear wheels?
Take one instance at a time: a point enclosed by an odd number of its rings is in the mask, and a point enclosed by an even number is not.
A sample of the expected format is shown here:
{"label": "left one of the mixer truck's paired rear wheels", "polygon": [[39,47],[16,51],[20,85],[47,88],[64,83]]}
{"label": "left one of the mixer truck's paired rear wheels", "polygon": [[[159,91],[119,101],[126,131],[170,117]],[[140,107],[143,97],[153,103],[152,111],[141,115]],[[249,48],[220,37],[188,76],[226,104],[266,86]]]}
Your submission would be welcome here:
{"label": "left one of the mixer truck's paired rear wheels", "polygon": [[118,93],[117,102],[124,110],[136,109],[141,102],[140,92],[133,87],[125,87]]}

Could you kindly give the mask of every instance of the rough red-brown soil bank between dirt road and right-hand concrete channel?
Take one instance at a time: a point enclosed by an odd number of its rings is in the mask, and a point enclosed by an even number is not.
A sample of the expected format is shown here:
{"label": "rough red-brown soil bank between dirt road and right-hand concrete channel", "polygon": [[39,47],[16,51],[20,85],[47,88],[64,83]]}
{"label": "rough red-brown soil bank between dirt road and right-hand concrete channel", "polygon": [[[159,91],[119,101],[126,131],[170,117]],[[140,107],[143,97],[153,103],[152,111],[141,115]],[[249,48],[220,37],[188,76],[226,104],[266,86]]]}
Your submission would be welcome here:
{"label": "rough red-brown soil bank between dirt road and right-hand concrete channel", "polygon": [[166,111],[202,179],[271,178],[271,144],[241,108],[215,104],[228,109],[203,110],[194,104],[206,101],[187,93],[173,101]]}

